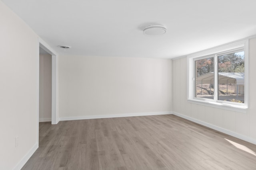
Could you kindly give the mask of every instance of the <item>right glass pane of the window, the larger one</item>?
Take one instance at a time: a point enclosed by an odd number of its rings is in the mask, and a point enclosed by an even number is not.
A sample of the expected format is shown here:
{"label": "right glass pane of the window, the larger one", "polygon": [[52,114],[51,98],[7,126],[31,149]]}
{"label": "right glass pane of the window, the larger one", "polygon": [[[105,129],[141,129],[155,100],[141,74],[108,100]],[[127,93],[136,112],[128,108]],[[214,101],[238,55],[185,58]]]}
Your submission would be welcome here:
{"label": "right glass pane of the window, the larger one", "polygon": [[244,51],[218,56],[218,100],[244,103]]}

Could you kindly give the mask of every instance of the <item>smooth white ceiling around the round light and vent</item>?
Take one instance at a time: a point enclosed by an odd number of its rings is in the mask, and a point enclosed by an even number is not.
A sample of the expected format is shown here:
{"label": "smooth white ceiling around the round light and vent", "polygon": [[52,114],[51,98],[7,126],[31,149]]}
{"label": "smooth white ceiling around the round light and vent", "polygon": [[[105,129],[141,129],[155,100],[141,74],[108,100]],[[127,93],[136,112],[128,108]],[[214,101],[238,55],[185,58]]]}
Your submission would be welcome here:
{"label": "smooth white ceiling around the round light and vent", "polygon": [[2,1],[59,54],[174,58],[256,35],[256,0]]}

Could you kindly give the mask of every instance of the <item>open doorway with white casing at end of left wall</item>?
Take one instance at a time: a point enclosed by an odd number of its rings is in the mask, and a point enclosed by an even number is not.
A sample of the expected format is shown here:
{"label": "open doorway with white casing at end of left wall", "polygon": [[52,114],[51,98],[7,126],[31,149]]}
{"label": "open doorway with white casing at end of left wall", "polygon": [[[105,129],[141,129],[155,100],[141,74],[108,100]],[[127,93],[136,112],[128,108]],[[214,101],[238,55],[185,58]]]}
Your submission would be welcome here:
{"label": "open doorway with white casing at end of left wall", "polygon": [[42,39],[39,39],[38,77],[38,123],[57,124],[57,53]]}

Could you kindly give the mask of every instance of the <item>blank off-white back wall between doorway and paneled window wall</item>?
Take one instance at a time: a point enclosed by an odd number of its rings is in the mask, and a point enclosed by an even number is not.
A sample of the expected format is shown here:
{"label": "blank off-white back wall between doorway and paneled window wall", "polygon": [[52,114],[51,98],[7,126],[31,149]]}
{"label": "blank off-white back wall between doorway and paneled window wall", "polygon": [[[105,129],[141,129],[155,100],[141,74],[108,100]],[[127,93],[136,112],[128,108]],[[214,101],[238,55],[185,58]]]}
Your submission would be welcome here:
{"label": "blank off-white back wall between doorway and paneled window wall", "polygon": [[58,66],[60,120],[172,111],[170,59],[60,56]]}

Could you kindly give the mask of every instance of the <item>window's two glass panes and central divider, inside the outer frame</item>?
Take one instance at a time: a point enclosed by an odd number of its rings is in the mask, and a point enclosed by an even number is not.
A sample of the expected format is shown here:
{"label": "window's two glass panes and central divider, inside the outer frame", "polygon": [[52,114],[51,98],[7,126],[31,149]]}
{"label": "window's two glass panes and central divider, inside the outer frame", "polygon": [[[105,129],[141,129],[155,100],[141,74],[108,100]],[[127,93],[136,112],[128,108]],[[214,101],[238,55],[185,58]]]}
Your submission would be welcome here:
{"label": "window's two glass panes and central divider, inside the outer frame", "polygon": [[244,103],[243,49],[201,57],[194,64],[195,98]]}

